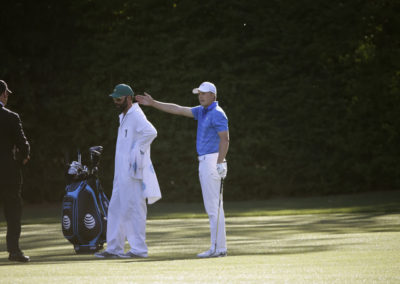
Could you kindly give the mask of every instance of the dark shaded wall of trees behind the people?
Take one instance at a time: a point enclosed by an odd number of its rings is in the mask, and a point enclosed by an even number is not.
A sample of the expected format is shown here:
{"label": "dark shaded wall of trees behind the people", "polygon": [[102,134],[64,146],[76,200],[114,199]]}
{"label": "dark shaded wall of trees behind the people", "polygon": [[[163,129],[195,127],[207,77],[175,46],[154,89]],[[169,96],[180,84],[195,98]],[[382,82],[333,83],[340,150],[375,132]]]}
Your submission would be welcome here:
{"label": "dark shaded wall of trees behind the people", "polygon": [[[397,11],[398,0],[3,3],[0,76],[32,146],[25,199],[60,200],[65,153],[93,145],[111,193],[108,94],[122,82],[185,106],[198,104],[193,87],[216,84],[230,124],[226,200],[398,189]],[[164,200],[201,200],[196,122],[143,109]]]}

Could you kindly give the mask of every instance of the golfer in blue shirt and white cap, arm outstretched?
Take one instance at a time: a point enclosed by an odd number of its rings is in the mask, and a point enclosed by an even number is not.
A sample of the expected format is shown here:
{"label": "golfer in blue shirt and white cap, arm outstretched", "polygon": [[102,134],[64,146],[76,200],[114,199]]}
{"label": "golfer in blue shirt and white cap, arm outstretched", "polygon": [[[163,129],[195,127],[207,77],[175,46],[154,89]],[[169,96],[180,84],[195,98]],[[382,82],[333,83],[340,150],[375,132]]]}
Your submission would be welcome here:
{"label": "golfer in blue shirt and white cap, arm outstretched", "polygon": [[225,216],[222,204],[221,183],[227,174],[225,160],[229,147],[228,118],[217,102],[217,88],[203,82],[193,93],[200,105],[184,107],[154,100],[149,94],[137,95],[139,104],[151,106],[175,115],[197,120],[196,147],[199,159],[199,177],[204,207],[210,221],[210,249],[198,257],[222,257],[227,255]]}

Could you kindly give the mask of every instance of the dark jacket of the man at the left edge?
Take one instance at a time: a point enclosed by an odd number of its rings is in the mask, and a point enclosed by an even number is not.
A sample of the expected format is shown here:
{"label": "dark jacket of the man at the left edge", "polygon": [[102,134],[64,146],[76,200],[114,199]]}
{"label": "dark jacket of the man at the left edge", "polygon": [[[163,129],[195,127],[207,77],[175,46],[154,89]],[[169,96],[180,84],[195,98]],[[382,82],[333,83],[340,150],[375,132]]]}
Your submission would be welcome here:
{"label": "dark jacket of the man at the left edge", "polygon": [[0,104],[0,183],[21,182],[20,167],[29,150],[19,115]]}

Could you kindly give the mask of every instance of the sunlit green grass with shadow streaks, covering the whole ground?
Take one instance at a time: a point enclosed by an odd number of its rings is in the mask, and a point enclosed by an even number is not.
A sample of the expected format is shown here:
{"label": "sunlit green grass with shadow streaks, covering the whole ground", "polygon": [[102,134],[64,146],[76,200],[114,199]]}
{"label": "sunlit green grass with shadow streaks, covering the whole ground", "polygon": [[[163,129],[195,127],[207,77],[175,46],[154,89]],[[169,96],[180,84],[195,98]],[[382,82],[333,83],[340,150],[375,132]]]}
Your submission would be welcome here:
{"label": "sunlit green grass with shadow streaks, covering the whole ground", "polygon": [[7,260],[1,226],[0,283],[399,283],[398,197],[226,202],[229,256],[218,259],[196,258],[209,243],[201,204],[149,207],[149,258],[131,260],[76,255],[46,216],[59,205],[27,206],[21,246],[32,262]]}

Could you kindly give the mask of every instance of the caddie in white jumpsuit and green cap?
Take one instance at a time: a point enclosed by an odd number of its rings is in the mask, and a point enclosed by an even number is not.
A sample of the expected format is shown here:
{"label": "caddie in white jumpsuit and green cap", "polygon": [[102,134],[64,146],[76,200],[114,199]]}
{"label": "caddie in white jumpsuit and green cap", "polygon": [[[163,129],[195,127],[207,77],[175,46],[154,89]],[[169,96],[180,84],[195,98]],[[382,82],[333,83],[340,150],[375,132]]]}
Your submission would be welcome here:
{"label": "caddie in white jumpsuit and green cap", "polygon": [[[150,160],[150,144],[157,136],[130,86],[119,84],[110,95],[122,111],[115,150],[113,191],[107,217],[107,248],[99,258],[147,257],[147,206],[161,198]],[[124,253],[125,240],[130,250]]]}

